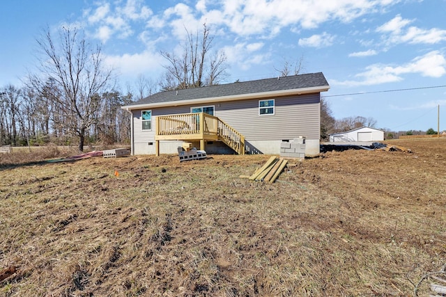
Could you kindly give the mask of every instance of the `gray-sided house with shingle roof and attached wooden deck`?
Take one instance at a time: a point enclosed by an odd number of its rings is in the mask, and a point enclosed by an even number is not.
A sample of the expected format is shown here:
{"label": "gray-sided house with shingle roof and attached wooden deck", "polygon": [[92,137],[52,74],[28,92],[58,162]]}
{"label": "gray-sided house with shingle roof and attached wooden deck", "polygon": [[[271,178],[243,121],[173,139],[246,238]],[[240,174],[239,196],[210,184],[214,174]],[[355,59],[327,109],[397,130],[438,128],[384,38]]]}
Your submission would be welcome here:
{"label": "gray-sided house with shingle roof and attached wooden deck", "polygon": [[321,72],[160,92],[123,106],[132,114],[132,154],[174,154],[184,142],[212,153],[279,154],[305,136],[318,154]]}

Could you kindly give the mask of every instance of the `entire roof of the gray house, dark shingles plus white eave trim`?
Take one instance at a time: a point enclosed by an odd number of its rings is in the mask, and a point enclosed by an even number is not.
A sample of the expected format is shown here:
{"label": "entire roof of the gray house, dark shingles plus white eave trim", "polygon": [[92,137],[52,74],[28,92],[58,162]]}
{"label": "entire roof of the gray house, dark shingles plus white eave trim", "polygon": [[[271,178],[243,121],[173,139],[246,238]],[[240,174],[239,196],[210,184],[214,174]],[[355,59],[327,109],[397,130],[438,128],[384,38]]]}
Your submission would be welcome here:
{"label": "entire roof of the gray house, dark shingles plus white eave trim", "polygon": [[141,109],[190,104],[192,102],[222,102],[237,99],[261,98],[274,95],[293,95],[323,92],[330,88],[322,72],[299,74],[274,79],[259,79],[227,83],[202,88],[188,88],[153,94],[123,109]]}

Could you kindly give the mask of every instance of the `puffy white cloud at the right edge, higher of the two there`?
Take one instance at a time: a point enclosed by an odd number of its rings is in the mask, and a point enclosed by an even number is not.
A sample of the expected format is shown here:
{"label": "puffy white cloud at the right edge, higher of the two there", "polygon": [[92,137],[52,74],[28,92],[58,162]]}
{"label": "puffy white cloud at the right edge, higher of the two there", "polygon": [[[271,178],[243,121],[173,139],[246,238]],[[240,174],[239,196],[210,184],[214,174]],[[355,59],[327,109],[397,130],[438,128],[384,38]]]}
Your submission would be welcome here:
{"label": "puffy white cloud at the right edge, higher of the two there", "polygon": [[416,26],[408,26],[414,22],[410,19],[403,19],[397,15],[389,22],[379,26],[376,29],[378,33],[384,33],[383,39],[387,45],[410,43],[410,44],[428,44],[433,45],[446,40],[446,30],[420,29]]}

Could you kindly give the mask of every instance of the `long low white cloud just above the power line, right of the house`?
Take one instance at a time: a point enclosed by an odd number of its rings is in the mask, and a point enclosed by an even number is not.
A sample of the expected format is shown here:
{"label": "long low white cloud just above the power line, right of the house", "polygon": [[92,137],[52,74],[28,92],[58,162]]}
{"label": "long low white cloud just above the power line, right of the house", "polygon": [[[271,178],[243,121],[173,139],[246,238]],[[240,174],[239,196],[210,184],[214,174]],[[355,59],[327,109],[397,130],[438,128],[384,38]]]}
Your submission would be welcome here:
{"label": "long low white cloud just above the power line, right of the house", "polygon": [[431,51],[424,56],[414,58],[410,63],[394,67],[392,65],[374,64],[366,71],[356,74],[360,80],[334,81],[341,86],[370,86],[380,83],[402,81],[403,74],[420,74],[423,77],[443,77],[446,74],[446,58],[440,51]]}

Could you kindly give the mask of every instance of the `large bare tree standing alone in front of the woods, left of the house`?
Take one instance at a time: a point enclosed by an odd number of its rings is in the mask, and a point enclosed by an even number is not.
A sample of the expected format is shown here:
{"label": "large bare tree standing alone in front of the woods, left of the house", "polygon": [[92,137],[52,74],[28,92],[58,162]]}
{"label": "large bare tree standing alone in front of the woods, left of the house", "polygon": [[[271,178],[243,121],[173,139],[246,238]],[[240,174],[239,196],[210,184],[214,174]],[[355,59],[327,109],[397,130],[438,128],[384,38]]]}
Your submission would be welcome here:
{"label": "large bare tree standing alone in front of the woods, left of the house", "polygon": [[55,39],[47,29],[37,40],[43,54],[41,73],[30,78],[42,93],[48,79],[54,82],[54,89],[60,93],[46,97],[57,109],[55,118],[62,120],[56,122],[79,137],[79,151],[83,151],[87,129],[98,122],[96,115],[103,99],[100,94],[105,92],[112,70],[103,66],[100,47],[91,47],[76,28],[63,26],[58,33],[59,39]]}

